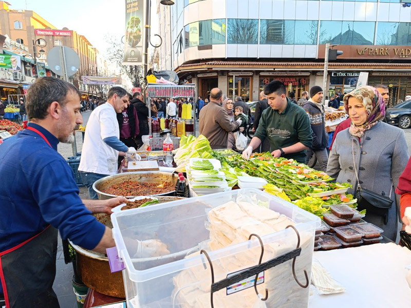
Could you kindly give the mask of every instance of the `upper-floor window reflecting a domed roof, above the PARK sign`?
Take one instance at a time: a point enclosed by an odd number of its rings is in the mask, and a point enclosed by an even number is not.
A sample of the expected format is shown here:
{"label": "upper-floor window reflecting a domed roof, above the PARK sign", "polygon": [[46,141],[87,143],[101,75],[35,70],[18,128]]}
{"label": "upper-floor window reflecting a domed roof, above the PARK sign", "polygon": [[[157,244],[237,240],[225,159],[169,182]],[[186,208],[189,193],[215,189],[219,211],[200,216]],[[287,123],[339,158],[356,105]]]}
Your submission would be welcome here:
{"label": "upper-floor window reflecting a domed roof, above the PARK sign", "polygon": [[321,21],[320,44],[373,45],[375,22]]}

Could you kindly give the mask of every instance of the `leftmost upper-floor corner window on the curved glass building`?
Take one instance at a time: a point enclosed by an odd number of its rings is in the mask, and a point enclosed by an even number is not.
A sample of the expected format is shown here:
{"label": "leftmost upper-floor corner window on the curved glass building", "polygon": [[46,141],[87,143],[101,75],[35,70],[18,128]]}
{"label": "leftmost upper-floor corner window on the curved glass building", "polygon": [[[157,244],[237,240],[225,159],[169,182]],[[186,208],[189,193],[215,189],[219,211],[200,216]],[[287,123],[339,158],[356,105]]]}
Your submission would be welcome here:
{"label": "leftmost upper-floor corner window on the curved glass building", "polygon": [[185,26],[185,48],[226,44],[226,20],[208,20]]}

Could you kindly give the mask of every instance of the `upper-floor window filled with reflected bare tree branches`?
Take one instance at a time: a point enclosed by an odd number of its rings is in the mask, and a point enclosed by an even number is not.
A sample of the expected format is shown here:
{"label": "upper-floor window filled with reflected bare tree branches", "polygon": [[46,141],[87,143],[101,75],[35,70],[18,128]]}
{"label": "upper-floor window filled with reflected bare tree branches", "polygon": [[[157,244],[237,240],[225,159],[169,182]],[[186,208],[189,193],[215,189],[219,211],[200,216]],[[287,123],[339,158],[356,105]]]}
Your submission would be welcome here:
{"label": "upper-floor window filled with reflected bare tree branches", "polygon": [[227,22],[228,44],[257,44],[258,20],[229,19]]}

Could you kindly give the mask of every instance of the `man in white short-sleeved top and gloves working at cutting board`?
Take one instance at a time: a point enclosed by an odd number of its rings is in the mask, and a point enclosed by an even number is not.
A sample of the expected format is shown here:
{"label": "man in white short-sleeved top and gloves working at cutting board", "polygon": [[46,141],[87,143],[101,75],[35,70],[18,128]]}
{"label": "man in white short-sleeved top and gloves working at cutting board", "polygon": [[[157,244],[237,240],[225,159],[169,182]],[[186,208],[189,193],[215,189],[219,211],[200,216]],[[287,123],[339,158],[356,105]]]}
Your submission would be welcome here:
{"label": "man in white short-sleeved top and gloves working at cutting board", "polygon": [[127,147],[119,139],[117,113],[127,107],[127,102],[127,91],[113,87],[108,91],[107,102],[94,109],[88,119],[79,171],[90,199],[98,199],[97,192],[92,188],[94,182],[117,174],[118,156],[137,155],[134,147]]}

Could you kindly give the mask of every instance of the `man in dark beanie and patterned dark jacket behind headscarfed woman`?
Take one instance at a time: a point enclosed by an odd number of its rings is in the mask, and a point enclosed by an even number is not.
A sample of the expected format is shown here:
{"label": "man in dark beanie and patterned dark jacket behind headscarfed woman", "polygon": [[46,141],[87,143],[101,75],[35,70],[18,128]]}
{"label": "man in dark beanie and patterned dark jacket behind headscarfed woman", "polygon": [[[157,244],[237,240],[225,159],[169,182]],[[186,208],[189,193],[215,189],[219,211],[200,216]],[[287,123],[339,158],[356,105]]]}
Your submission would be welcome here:
{"label": "man in dark beanie and patterned dark jacket behind headscarfed woman", "polygon": [[310,118],[312,129],[312,146],[307,150],[305,163],[310,161],[312,152],[320,164],[320,170],[327,170],[328,163],[328,134],[325,130],[325,113],[323,101],[324,92],[319,86],[313,86],[310,89],[310,99],[304,103],[303,108]]}

